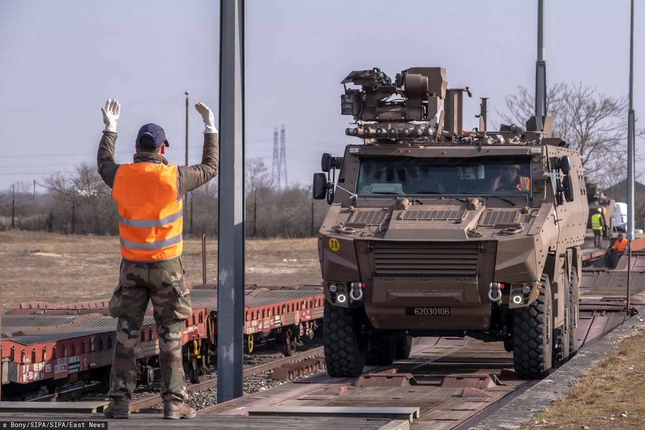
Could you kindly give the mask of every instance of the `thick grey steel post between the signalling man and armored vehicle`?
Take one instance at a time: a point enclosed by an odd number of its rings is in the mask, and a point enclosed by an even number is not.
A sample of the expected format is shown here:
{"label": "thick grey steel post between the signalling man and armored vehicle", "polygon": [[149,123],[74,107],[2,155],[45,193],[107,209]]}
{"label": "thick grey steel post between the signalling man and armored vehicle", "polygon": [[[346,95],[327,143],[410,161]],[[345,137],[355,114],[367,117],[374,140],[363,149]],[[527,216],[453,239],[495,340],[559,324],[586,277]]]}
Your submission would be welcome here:
{"label": "thick grey steel post between the signalling man and armored vehicle", "polygon": [[219,32],[218,404],[244,394],[244,0],[220,1]]}

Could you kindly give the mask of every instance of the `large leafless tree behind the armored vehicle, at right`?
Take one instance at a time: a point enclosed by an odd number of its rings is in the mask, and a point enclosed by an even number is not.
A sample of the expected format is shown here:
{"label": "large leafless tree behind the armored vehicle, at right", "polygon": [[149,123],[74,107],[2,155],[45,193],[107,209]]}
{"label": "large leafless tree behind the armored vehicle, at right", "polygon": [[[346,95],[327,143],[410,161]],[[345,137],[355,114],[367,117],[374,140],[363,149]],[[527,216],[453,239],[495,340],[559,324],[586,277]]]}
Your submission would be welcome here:
{"label": "large leafless tree behind the armored vehicle, at right", "polygon": [[[547,90],[548,115],[554,117],[553,133],[569,142],[582,157],[584,174],[603,186],[622,181],[627,175],[626,97],[613,97],[597,88],[558,83]],[[524,86],[506,96],[502,121],[524,124],[534,115],[535,97]],[[636,130],[643,137],[645,130]],[[637,156],[637,161],[639,157]]]}

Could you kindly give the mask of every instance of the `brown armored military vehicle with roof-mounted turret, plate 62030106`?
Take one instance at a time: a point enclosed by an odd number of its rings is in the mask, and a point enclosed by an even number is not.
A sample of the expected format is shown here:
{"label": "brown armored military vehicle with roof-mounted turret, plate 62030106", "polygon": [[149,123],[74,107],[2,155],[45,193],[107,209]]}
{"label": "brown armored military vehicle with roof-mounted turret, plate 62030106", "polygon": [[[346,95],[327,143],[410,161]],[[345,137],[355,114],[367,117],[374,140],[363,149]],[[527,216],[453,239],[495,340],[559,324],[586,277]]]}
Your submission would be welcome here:
{"label": "brown armored military vehicle with roof-mounted turret, plate 62030106", "polygon": [[345,132],[362,142],[324,154],[313,177],[331,205],[318,240],[328,373],[391,364],[419,336],[502,341],[522,378],[574,355],[588,204],[553,118],[491,131],[483,98],[464,131],[470,89],[440,67],[342,84]]}

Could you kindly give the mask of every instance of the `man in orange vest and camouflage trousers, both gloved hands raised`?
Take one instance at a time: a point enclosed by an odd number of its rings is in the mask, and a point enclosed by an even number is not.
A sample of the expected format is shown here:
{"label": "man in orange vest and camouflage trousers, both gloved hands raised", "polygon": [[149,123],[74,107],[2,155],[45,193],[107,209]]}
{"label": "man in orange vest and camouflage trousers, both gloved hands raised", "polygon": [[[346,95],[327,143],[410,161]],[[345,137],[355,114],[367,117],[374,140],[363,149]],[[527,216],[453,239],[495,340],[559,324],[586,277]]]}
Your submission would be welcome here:
{"label": "man in orange vest and camouflage trousers, both gloved hands raised", "polygon": [[219,162],[213,113],[203,103],[195,104],[195,108],[205,126],[202,161],[195,166],[168,164],[163,156],[168,147],[166,133],[152,122],[137,133],[134,162],[116,164],[114,146],[121,104],[108,99],[101,109],[105,129],[97,166],[117,202],[123,257],[109,308],[110,315],[119,321],[108,391],[112,403],[104,411],[107,418],[130,415],[129,404],[137,385],[137,339],[150,300],[159,341],[163,417],[195,418],[194,409],[185,403],[188,395],[181,355],[184,322],[192,315],[190,290],[184,283],[179,258],[183,246],[182,196],[210,181]]}

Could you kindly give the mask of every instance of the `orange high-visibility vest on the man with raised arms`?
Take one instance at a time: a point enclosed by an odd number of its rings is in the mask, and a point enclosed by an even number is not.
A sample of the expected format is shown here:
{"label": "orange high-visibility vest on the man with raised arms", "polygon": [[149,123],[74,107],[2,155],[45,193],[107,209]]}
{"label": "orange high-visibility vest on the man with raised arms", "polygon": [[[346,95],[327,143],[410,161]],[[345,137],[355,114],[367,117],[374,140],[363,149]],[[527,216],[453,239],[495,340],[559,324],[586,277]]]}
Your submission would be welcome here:
{"label": "orange high-visibility vest on the man with raised arms", "polygon": [[112,197],[119,206],[124,259],[156,262],[181,255],[183,204],[177,181],[175,164],[136,162],[119,166]]}

